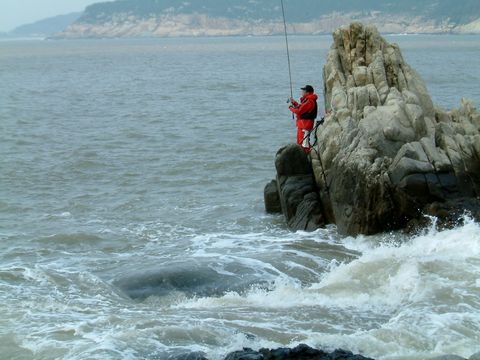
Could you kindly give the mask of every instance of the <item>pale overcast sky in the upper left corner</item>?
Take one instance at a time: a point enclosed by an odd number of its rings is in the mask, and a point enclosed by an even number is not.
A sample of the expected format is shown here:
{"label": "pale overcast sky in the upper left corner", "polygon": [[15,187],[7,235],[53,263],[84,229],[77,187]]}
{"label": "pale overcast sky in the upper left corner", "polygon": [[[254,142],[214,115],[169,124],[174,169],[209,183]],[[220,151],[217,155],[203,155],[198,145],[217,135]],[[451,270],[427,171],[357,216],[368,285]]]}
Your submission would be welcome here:
{"label": "pale overcast sky in the upper left corner", "polygon": [[0,32],[50,16],[82,11],[105,0],[0,0]]}

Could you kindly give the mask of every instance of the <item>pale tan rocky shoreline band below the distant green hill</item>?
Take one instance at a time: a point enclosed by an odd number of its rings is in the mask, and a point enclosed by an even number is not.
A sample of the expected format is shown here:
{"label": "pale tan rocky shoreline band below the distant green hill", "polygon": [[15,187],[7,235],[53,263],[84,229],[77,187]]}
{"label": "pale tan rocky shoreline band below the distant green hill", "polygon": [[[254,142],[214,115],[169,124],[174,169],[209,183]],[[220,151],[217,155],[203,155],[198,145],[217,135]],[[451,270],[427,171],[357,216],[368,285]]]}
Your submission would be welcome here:
{"label": "pale tan rocky shoreline band below the distant green hill", "polygon": [[[318,20],[289,24],[291,34],[330,34],[352,21],[372,23],[380,32],[390,34],[480,34],[480,20],[468,24],[429,20],[423,17],[390,15],[380,12],[333,13]],[[211,17],[205,14],[166,14],[148,18],[116,14],[108,21],[91,23],[77,21],[53,39],[135,38],[182,36],[266,36],[283,33],[279,21],[247,21]]]}

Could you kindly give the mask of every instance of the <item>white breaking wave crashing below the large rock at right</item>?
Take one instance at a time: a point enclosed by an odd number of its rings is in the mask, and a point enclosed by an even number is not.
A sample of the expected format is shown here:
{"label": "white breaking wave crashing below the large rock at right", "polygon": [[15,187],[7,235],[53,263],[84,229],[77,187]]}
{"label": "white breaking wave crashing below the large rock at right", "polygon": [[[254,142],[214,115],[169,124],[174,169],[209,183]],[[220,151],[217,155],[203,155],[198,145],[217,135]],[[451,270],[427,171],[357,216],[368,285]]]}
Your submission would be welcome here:
{"label": "white breaking wave crashing below the large rock at right", "polygon": [[[417,236],[400,238],[389,234],[342,240],[361,255],[350,262],[332,262],[309,286],[281,277],[269,289],[184,299],[173,307],[280,309],[284,314],[316,310],[318,322],[341,313],[356,329],[343,334],[306,332],[303,342],[345,347],[379,359],[452,353],[468,357],[479,351],[480,225],[466,219],[452,230],[432,226]],[[365,324],[369,319],[376,320]]]}

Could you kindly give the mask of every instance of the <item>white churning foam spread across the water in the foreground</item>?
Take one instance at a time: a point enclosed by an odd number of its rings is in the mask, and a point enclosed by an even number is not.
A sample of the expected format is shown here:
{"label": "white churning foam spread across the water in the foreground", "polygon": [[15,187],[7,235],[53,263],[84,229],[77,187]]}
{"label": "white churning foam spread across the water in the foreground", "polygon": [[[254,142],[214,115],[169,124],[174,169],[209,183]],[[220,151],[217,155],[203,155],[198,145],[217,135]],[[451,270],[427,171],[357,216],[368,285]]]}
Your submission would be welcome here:
{"label": "white churning foam spread across the water in the foreground", "polygon": [[[151,229],[135,230],[143,239]],[[150,247],[142,251],[158,249],[150,239],[146,243]],[[468,219],[456,229],[432,228],[412,238],[388,234],[339,240],[334,232],[277,237],[266,232],[192,235],[185,244],[186,257],[206,259],[218,273],[233,275],[241,268],[275,281],[269,288],[219,297],[173,296],[137,304],[122,303],[108,284],[72,264],[22,267],[32,290],[48,290],[51,298],[42,298],[40,305],[28,300],[28,306],[40,307],[35,332],[20,329],[21,345],[40,356],[61,346],[57,336],[74,333],[71,350],[65,350],[69,358],[107,350],[128,357],[141,343],[139,347],[148,344],[155,351],[183,344],[187,350],[207,352],[212,360],[243,346],[299,342],[343,347],[378,359],[446,353],[468,357],[480,350],[480,226]],[[316,244],[348,254],[348,262],[325,265]],[[297,272],[307,273],[313,283],[296,277]],[[250,333],[255,337],[245,336]]]}

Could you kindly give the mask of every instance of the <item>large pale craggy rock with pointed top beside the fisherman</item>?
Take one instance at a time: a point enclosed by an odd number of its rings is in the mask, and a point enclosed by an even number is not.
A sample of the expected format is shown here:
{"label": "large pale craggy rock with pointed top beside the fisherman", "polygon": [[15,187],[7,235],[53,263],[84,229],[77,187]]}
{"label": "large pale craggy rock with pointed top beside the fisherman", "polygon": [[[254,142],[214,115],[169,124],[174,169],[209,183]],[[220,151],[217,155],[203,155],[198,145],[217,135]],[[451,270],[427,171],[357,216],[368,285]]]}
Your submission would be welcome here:
{"label": "large pale craggy rock with pointed top beside the fisherman", "polygon": [[436,107],[399,47],[373,26],[353,23],[333,39],[323,71],[332,112],[311,154],[324,221],[356,235],[404,228],[423,214],[480,218],[474,106]]}

